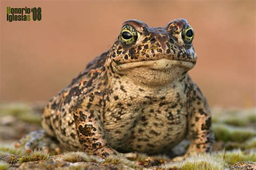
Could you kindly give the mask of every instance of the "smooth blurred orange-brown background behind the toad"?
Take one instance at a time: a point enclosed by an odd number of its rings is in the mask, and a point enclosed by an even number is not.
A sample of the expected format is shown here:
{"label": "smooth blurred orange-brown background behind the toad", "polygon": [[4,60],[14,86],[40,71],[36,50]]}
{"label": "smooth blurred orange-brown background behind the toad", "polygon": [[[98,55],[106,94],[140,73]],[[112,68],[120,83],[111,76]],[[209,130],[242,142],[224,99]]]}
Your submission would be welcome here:
{"label": "smooth blurred orange-brown background behind the toad", "polygon": [[[255,106],[255,1],[1,1],[0,102],[47,101],[126,19],[165,26],[186,18],[198,62],[190,74],[211,106]],[[42,8],[40,22],[7,22],[6,6]]]}

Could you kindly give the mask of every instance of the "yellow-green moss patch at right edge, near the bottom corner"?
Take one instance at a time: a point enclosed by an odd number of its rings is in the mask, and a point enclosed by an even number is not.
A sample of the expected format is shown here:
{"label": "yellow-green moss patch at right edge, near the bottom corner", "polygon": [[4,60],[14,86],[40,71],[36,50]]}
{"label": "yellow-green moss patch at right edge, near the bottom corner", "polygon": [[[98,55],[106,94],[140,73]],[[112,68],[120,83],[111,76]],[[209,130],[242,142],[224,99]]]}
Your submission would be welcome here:
{"label": "yellow-green moss patch at right edge, near the bottom corner", "polygon": [[255,152],[248,152],[241,150],[234,150],[234,151],[228,151],[224,153],[218,154],[220,157],[223,157],[223,159],[228,162],[228,164],[233,165],[236,162],[244,162],[244,161],[252,161],[256,162],[256,153]]}

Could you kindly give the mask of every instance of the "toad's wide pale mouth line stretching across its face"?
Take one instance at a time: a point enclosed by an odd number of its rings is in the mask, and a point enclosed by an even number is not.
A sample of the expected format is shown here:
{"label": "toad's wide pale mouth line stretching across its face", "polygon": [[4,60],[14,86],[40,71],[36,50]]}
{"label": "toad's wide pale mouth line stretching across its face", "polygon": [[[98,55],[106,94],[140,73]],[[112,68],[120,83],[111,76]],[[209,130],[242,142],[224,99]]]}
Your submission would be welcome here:
{"label": "toad's wide pale mouth line stretching across its face", "polygon": [[169,60],[166,58],[162,58],[159,60],[123,63],[120,65],[117,65],[116,68],[119,70],[124,70],[124,69],[131,69],[135,67],[149,67],[151,69],[164,70],[164,69],[170,69],[176,66],[176,67],[181,67],[185,69],[192,69],[194,65],[195,63],[193,62],[181,61],[181,60]]}

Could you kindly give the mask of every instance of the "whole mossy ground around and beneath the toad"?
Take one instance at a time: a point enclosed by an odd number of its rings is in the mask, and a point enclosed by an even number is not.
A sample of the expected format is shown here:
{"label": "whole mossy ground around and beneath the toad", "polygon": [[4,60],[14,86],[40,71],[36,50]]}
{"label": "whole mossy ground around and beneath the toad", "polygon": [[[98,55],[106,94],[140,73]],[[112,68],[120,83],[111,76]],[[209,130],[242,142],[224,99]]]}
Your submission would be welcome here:
{"label": "whole mossy ground around and beneath the toad", "polygon": [[[138,154],[136,159],[123,155],[105,160],[84,152],[65,152],[49,155],[43,151],[25,153],[14,148],[24,134],[41,129],[44,104],[0,105],[0,170],[1,169],[224,169],[254,167],[256,169],[256,113],[255,109],[213,108],[214,152],[200,154],[181,162],[173,162],[166,155],[149,157]],[[247,167],[247,168],[248,168]]]}

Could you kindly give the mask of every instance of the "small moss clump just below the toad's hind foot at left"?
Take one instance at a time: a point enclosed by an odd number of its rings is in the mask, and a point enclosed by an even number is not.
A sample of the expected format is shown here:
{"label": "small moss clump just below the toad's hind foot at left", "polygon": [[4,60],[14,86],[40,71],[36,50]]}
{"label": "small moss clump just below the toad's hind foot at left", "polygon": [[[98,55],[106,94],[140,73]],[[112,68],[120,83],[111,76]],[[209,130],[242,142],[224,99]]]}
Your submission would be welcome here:
{"label": "small moss clump just below the toad's hind foot at left", "polygon": [[23,162],[29,162],[29,161],[49,160],[49,159],[50,159],[50,156],[47,152],[35,150],[28,155],[23,155],[21,158],[19,158],[19,162],[23,163]]}

